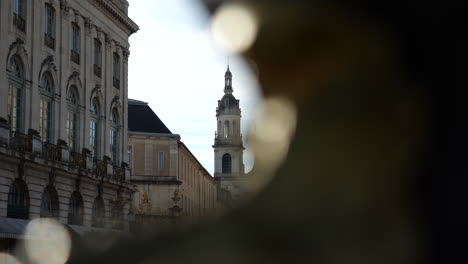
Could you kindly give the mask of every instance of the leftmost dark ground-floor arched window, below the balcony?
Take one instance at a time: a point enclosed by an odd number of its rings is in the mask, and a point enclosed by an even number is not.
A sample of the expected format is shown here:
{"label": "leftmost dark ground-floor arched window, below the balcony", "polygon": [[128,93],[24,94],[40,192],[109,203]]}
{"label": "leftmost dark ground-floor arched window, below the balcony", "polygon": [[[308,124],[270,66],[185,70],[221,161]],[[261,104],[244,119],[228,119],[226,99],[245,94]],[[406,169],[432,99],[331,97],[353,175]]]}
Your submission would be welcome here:
{"label": "leftmost dark ground-floor arched window, below the balcony", "polygon": [[28,186],[23,180],[16,179],[10,187],[7,217],[29,218],[29,192]]}

